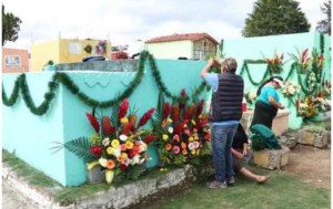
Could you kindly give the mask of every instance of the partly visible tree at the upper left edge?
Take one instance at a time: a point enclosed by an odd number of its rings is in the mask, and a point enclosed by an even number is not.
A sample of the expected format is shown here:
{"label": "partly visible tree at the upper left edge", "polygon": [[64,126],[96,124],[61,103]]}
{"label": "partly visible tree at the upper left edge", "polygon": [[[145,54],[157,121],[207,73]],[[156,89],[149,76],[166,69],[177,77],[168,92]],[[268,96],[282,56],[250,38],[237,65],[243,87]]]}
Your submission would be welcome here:
{"label": "partly visible tree at the upper left edge", "polygon": [[20,18],[12,13],[4,12],[4,6],[2,4],[2,46],[7,41],[16,41],[20,31]]}

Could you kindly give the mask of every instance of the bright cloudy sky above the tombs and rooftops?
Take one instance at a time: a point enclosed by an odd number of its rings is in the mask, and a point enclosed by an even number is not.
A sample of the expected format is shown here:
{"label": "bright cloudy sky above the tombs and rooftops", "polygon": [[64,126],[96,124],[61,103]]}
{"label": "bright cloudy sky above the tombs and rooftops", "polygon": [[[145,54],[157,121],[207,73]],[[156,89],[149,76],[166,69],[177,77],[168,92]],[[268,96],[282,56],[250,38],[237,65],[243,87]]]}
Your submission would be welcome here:
{"label": "bright cloudy sky above the tombs and rooftops", "polygon": [[[206,32],[214,39],[241,38],[255,0],[2,0],[23,21],[19,39],[4,48],[27,49],[63,39],[109,39],[131,44],[173,33]],[[299,0],[311,30],[325,15],[325,0]]]}

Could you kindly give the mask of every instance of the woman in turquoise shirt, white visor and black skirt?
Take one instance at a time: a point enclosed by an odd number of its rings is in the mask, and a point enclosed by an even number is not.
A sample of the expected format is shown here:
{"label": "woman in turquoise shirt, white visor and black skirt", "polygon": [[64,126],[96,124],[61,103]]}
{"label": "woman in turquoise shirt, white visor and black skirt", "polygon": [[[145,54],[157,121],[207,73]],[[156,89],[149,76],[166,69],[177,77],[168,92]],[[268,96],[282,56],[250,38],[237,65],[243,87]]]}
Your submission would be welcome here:
{"label": "woman in turquoise shirt, white visor and black skirt", "polygon": [[279,108],[284,109],[276,92],[276,90],[283,86],[283,79],[281,76],[272,76],[259,86],[251,127],[255,124],[262,124],[272,129],[272,123]]}

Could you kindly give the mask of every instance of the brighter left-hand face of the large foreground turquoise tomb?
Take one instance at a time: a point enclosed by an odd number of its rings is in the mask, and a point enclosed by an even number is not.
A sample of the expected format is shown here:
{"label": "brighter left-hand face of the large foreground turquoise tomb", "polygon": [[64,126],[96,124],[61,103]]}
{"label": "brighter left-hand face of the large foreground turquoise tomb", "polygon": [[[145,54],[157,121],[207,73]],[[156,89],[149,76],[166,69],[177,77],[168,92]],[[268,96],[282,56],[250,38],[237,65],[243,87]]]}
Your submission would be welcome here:
{"label": "brighter left-hand face of the large foreground turquoise tomb", "polygon": [[[44,100],[48,82],[53,73],[27,73],[31,97],[38,106]],[[8,97],[10,96],[19,73],[2,74],[2,83]],[[50,111],[43,115],[33,115],[20,94],[17,103],[11,106],[2,104],[2,148],[42,170],[46,175],[62,185],[67,184],[64,151],[51,155],[52,142],[62,142],[62,86],[58,88]]]}

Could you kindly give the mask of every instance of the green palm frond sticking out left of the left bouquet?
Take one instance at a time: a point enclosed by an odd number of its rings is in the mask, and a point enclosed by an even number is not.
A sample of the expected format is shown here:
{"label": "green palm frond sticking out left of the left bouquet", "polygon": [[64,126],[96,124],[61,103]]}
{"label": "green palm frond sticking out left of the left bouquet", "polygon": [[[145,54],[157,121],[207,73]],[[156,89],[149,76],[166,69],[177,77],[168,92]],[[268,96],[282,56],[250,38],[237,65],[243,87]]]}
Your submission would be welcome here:
{"label": "green palm frond sticking out left of the left bouquet", "polygon": [[84,163],[90,163],[99,159],[98,156],[90,153],[91,143],[87,137],[80,137],[70,140],[63,145],[63,147],[80,157]]}

